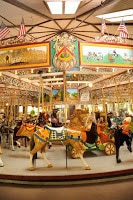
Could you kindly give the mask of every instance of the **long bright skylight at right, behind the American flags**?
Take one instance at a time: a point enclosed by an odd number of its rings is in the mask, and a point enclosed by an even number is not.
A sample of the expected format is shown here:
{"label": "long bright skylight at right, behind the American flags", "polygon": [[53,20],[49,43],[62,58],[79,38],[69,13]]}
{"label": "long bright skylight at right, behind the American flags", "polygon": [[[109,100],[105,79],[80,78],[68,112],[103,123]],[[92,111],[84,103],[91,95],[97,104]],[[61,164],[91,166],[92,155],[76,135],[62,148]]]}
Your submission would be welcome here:
{"label": "long bright skylight at right, behind the American flags", "polygon": [[133,20],[133,9],[107,13],[103,15],[98,15],[96,17],[106,19],[110,22],[119,22],[121,20],[130,21]]}

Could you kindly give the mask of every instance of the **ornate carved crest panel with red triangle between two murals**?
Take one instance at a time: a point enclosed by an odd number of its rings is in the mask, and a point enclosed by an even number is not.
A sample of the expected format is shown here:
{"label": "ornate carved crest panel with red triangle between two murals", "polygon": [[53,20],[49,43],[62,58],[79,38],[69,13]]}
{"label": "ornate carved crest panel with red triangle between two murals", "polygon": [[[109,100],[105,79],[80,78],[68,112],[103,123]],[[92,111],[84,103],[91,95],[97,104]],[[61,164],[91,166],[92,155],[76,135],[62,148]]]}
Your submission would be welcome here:
{"label": "ornate carved crest panel with red triangle between two murals", "polygon": [[67,33],[51,41],[51,54],[53,71],[71,70],[79,66],[79,43]]}

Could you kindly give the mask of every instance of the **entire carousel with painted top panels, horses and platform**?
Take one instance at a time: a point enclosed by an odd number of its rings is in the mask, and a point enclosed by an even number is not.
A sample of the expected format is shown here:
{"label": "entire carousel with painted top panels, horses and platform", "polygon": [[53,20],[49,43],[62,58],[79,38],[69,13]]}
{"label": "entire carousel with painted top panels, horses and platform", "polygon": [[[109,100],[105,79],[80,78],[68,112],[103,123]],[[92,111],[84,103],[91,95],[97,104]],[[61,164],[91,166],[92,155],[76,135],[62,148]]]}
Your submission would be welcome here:
{"label": "entire carousel with painted top panels, horses and platform", "polygon": [[63,32],[1,51],[1,182],[132,177],[131,45],[83,43]]}

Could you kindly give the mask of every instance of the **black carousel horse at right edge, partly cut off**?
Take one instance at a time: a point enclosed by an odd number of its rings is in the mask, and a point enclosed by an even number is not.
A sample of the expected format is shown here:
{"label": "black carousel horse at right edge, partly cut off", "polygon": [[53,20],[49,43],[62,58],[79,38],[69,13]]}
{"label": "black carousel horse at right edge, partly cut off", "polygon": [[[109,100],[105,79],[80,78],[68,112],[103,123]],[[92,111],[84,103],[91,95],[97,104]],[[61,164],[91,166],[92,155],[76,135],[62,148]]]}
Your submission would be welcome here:
{"label": "black carousel horse at right edge, partly cut off", "polygon": [[115,128],[114,138],[116,146],[116,162],[120,163],[121,159],[119,158],[120,147],[126,142],[127,149],[129,152],[132,152],[132,135],[131,131],[133,130],[133,122],[131,117],[126,117],[123,120],[122,125],[119,125]]}

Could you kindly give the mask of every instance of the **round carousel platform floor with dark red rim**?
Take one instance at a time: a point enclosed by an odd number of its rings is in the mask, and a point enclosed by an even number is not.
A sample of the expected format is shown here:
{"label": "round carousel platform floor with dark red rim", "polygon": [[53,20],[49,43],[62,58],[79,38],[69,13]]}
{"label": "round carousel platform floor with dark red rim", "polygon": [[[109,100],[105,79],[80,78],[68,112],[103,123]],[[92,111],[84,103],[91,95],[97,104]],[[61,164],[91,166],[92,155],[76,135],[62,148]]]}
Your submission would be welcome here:
{"label": "round carousel platform floor with dark red rim", "polygon": [[91,167],[85,170],[80,159],[66,154],[66,147],[53,144],[46,149],[47,158],[53,167],[47,168],[46,162],[38,153],[36,170],[29,171],[29,147],[21,146],[15,151],[3,148],[0,167],[0,183],[27,185],[77,185],[133,179],[133,152],[126,144],[120,148],[121,163],[117,164],[115,155],[107,156],[104,151],[85,152],[84,158]]}

